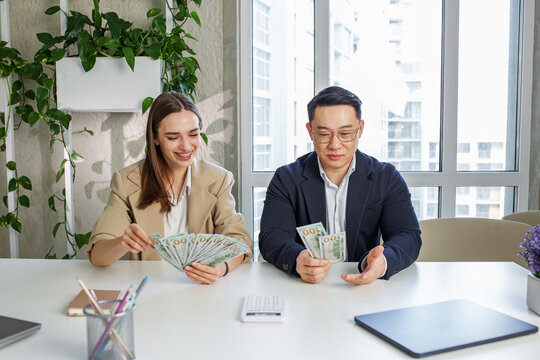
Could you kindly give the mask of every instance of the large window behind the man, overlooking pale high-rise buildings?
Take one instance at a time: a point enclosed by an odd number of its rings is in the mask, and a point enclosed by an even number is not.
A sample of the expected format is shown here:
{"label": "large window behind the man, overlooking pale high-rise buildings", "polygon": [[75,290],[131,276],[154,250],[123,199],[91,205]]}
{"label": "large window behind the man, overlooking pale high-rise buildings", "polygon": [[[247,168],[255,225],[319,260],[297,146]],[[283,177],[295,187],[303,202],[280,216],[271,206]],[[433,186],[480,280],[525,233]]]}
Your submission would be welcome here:
{"label": "large window behind the man, overlooking pale high-rise buildings", "polygon": [[527,209],[532,6],[241,0],[240,17],[252,19],[240,24],[240,181],[252,233],[273,171],[312,150],[306,105],[330,85],[363,101],[359,149],[401,171],[419,219]]}

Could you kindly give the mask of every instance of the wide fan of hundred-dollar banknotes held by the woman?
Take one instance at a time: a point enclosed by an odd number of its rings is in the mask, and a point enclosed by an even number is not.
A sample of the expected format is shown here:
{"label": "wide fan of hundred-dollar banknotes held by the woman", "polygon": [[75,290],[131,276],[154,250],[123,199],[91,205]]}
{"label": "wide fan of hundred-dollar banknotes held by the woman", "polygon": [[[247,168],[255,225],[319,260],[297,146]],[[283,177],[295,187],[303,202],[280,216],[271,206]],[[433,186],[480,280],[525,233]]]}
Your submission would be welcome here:
{"label": "wide fan of hundred-dollar banknotes held by the woman", "polygon": [[181,271],[194,262],[216,266],[251,251],[243,242],[220,234],[178,234],[162,238],[156,233],[149,236],[156,253]]}

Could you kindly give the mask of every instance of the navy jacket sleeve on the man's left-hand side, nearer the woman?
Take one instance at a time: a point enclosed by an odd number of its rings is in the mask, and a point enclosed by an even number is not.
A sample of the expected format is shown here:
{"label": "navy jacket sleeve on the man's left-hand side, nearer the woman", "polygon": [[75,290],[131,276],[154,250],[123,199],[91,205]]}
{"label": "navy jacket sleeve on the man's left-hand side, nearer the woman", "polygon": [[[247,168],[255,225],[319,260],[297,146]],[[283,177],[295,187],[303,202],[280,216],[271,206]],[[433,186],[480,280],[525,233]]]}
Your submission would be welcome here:
{"label": "navy jacket sleeve on the man's left-hand side, nearer the woman", "polygon": [[285,178],[285,171],[278,169],[266,191],[259,249],[264,259],[278,269],[298,275],[296,258],[305,247],[295,241],[296,216]]}

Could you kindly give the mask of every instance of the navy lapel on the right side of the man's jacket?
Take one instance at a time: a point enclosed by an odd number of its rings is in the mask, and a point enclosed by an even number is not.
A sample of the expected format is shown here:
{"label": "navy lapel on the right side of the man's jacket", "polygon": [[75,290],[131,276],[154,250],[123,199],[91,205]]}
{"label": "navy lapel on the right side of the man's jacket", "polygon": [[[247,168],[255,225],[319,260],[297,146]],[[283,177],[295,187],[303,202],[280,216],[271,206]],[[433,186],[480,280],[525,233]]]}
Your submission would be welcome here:
{"label": "navy lapel on the right side of the man's jacket", "polygon": [[[352,239],[358,238],[362,217],[367,206],[373,182],[368,179],[370,174],[369,164],[364,155],[356,151],[356,170],[349,178],[347,189],[346,228],[347,233],[353,235]],[[352,240],[351,239],[351,240]],[[354,241],[347,241],[347,254],[354,254]]]}

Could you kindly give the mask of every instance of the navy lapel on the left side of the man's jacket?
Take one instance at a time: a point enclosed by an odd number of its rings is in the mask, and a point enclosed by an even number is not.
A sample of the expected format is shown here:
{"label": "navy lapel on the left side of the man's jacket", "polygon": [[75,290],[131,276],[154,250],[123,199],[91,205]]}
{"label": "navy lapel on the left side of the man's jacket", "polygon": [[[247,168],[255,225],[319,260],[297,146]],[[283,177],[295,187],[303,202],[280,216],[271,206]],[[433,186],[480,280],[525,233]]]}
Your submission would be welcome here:
{"label": "navy lapel on the left side of the man's jacket", "polygon": [[[306,208],[309,215],[309,223],[322,222],[326,227],[326,196],[324,182],[319,174],[317,155],[313,152],[306,160],[303,174],[306,181],[300,184]],[[304,224],[307,225],[307,224]]]}

